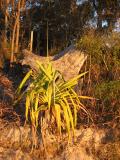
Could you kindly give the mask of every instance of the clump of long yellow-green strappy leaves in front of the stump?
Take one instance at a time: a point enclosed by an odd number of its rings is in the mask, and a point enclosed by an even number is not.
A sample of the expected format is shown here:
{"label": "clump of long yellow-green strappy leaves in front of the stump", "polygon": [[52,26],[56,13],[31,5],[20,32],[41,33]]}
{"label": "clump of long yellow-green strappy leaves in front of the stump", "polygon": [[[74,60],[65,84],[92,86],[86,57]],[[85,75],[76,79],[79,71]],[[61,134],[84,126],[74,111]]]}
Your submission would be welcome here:
{"label": "clump of long yellow-green strappy leaves in front of the stump", "polygon": [[[17,89],[18,99],[20,100],[22,97],[26,99],[26,121],[30,120],[32,125],[37,128],[40,118],[43,118],[40,113],[47,111],[49,117],[53,117],[60,134],[62,129],[66,130],[69,136],[71,130],[74,134],[77,111],[82,109],[88,114],[80,102],[80,98],[87,99],[89,97],[79,97],[73,89],[78,83],[78,79],[84,76],[86,72],[65,81],[50,62],[43,65],[37,61],[36,65],[38,70],[30,70]],[[27,89],[23,91],[28,80],[30,83]]]}

